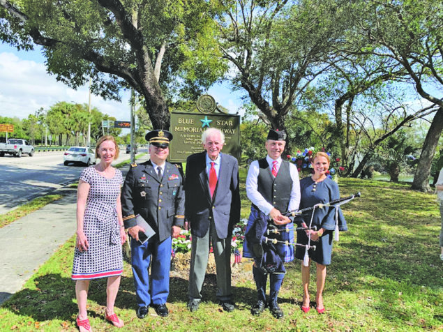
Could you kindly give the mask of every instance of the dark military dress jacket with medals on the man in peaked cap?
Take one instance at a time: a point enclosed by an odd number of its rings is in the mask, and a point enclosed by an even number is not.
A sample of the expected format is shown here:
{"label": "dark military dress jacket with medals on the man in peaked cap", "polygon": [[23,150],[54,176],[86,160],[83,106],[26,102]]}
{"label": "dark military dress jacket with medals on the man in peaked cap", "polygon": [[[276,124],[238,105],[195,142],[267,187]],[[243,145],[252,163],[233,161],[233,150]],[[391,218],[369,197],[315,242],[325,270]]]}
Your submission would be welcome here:
{"label": "dark military dress jacket with medals on the man in peaked cap", "polygon": [[137,225],[140,214],[163,241],[172,226],[183,227],[184,209],[183,178],[176,166],[166,162],[160,181],[150,160],[131,165],[121,191],[125,228]]}

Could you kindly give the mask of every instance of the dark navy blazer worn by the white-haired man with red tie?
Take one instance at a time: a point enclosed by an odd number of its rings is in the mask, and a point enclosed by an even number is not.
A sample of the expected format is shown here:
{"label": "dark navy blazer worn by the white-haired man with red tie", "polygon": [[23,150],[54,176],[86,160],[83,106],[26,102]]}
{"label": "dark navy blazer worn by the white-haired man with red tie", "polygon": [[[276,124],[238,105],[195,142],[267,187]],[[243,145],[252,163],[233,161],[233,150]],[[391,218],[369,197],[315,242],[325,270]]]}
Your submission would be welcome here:
{"label": "dark navy blazer worn by the white-haired man with red tie", "polygon": [[191,234],[203,237],[213,218],[218,238],[225,239],[240,220],[239,163],[236,158],[220,153],[220,172],[211,199],[206,154],[206,151],[194,153],[186,162],[185,215]]}

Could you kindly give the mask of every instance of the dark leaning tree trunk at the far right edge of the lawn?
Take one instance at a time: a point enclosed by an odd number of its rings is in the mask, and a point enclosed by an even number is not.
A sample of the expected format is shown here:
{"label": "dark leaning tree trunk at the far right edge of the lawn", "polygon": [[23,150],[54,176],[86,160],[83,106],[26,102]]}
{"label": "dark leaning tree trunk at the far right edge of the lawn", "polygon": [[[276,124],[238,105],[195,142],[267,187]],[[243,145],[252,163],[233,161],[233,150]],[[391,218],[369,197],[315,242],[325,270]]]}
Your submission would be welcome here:
{"label": "dark leaning tree trunk at the far right edge of the lawn", "polygon": [[433,122],[430,124],[428,134],[426,135],[423,149],[417,169],[414,175],[414,181],[412,181],[411,189],[419,190],[423,192],[430,191],[429,175],[430,166],[435,155],[435,149],[437,148],[438,140],[442,135],[443,130],[443,108],[440,107],[435,113]]}

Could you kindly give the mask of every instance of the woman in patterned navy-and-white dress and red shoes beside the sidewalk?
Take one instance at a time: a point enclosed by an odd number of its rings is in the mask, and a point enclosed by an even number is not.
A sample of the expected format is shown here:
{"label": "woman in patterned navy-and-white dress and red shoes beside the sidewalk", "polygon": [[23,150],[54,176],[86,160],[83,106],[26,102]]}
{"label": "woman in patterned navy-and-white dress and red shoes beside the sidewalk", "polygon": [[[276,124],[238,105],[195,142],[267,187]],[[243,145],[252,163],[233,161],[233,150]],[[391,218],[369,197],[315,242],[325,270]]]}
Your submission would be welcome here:
{"label": "woman in patterned navy-and-white dress and red shoes beside the sidewalk", "polygon": [[119,156],[119,146],[112,136],[103,136],[96,145],[98,165],[87,167],[80,175],[77,190],[77,242],[72,279],[76,280],[77,326],[80,332],[92,331],[87,317],[89,281],[107,278],[105,318],[114,326],[123,321],[114,313],[119,291],[126,241],[120,204],[123,176],[111,166]]}

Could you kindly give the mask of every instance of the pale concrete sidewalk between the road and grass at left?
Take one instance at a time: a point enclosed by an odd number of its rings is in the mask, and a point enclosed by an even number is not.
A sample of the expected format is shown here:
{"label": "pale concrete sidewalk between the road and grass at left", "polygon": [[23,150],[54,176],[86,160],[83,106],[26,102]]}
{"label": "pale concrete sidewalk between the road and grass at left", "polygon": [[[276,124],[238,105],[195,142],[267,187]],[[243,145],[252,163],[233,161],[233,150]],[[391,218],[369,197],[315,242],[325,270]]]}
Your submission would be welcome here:
{"label": "pale concrete sidewalk between the road and grass at left", "polygon": [[[123,167],[123,178],[129,165]],[[0,228],[0,304],[38,271],[63,243],[75,234],[76,188],[51,194],[64,197]]]}

